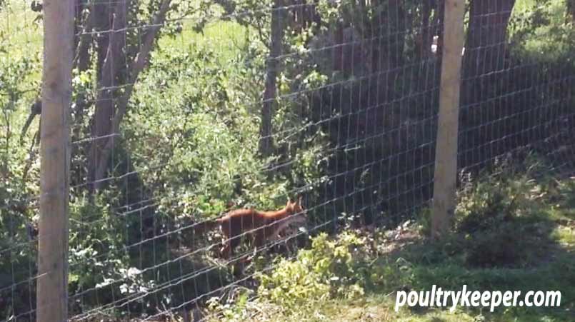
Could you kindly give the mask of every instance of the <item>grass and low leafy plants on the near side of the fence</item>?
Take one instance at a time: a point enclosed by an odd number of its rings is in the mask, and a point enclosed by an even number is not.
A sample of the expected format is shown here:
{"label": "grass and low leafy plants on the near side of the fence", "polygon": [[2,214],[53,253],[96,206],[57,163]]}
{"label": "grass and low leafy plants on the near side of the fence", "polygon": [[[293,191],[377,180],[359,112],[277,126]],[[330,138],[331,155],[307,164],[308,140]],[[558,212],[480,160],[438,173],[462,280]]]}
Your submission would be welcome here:
{"label": "grass and low leafy plants on the near side of the fence", "polygon": [[[546,164],[500,163],[464,175],[452,233],[432,242],[427,218],[394,231],[347,229],[311,238],[293,259],[259,273],[259,288],[212,298],[211,321],[573,321],[573,178]],[[559,308],[403,308],[395,292],[432,285],[458,291],[561,291]],[[361,312],[361,313],[360,313]]]}

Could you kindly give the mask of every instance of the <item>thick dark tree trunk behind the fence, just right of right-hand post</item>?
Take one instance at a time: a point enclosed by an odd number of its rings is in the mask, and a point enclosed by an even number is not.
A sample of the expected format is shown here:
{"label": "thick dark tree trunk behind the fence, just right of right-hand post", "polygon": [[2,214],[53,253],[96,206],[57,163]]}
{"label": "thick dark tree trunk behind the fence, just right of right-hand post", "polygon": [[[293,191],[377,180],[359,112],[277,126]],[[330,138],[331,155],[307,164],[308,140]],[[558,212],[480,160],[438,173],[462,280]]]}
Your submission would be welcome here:
{"label": "thick dark tree trunk behind the fence, just right of right-hand post", "polygon": [[[461,87],[461,127],[466,129],[460,133],[460,151],[466,151],[459,154],[461,168],[479,167],[491,156],[517,146],[515,143],[508,144],[509,140],[500,136],[503,133],[511,134],[516,122],[522,123],[521,113],[516,113],[523,107],[504,103],[509,99],[501,101],[501,97],[509,95],[509,89],[513,88],[513,84],[501,86],[501,79],[511,76],[505,69],[510,68],[506,66],[506,57],[509,56],[507,26],[514,4],[515,0],[473,0],[470,4]],[[501,105],[505,109],[501,109]],[[505,115],[497,115],[507,114],[507,111],[513,112],[504,118],[506,129],[499,129],[502,124],[496,121],[501,121]],[[515,138],[513,141],[519,144],[521,136]],[[498,144],[487,145],[494,140]]]}

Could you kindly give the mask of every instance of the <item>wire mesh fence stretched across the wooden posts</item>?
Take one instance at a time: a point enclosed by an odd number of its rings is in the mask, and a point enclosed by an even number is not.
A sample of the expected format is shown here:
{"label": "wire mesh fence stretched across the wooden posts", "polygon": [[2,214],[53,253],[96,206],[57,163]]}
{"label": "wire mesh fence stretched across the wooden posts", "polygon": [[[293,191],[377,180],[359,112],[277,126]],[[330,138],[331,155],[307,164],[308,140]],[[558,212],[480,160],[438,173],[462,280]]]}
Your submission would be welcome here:
{"label": "wire mesh fence stretched across the wooden posts", "polygon": [[[554,46],[573,21],[565,7],[554,34],[536,20],[545,10],[469,1],[459,170],[537,154],[572,171],[575,66],[569,41]],[[1,64],[12,47],[41,52],[37,29],[15,22],[34,11],[0,1]],[[256,272],[309,236],[392,228],[429,206],[444,1],[97,0],[75,11],[71,320],[197,315],[209,298],[255,288]],[[33,44],[6,36],[16,26],[36,30]],[[22,67],[31,91],[34,64]],[[36,102],[0,93],[4,106]],[[3,111],[0,321],[31,321],[41,124],[26,122],[21,152],[9,117],[22,117]]]}

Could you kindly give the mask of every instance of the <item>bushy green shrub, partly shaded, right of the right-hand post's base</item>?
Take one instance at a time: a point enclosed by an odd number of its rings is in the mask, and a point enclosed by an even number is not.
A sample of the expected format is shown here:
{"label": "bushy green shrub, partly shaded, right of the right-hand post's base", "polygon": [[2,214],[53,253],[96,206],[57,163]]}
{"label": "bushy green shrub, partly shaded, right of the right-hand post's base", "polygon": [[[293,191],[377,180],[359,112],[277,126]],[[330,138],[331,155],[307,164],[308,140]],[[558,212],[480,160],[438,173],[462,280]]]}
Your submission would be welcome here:
{"label": "bushy green shrub, partly shaded, right of the right-hand post's base", "polygon": [[551,196],[541,162],[501,163],[476,180],[462,179],[454,230],[471,266],[524,266],[544,254],[549,227],[536,224]]}

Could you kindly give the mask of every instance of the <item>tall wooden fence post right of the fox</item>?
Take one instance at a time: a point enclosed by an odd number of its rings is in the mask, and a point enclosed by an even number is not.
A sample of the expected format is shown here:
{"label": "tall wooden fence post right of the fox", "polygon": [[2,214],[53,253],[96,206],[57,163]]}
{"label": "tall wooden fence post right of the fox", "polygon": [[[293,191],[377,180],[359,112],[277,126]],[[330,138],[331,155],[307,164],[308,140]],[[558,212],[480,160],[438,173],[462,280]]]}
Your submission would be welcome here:
{"label": "tall wooden fence post right of the fox", "polygon": [[441,89],[434,173],[434,202],[431,236],[439,238],[449,230],[456,206],[457,134],[459,129],[459,87],[461,52],[464,44],[465,0],[446,0],[444,47],[441,60]]}

